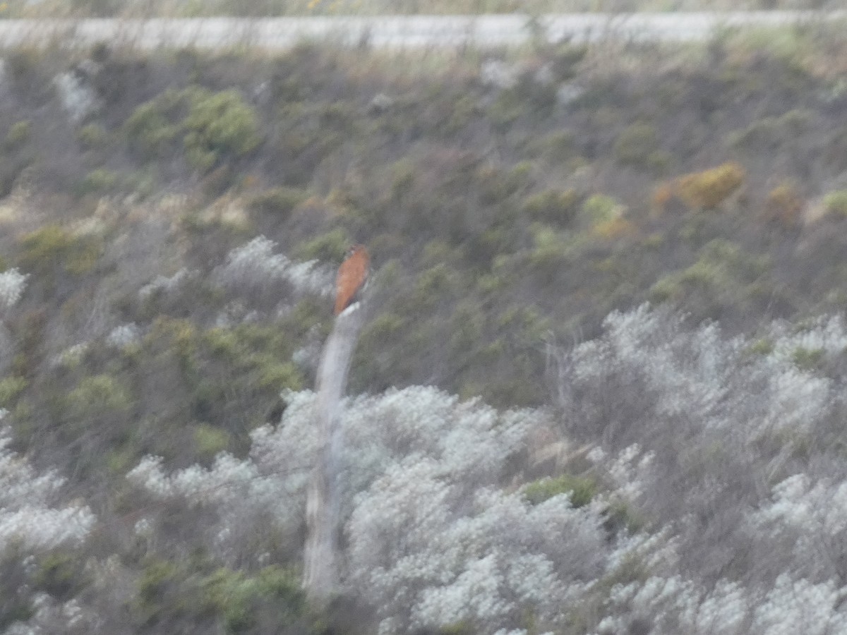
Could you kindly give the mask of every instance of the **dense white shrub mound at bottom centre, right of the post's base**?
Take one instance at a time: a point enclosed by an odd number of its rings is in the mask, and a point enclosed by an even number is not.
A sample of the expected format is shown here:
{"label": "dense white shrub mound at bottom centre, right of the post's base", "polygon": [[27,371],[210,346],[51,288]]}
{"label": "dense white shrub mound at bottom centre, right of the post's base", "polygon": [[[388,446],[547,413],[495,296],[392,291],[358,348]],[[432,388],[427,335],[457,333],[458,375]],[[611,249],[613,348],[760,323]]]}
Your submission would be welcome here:
{"label": "dense white shrub mound at bottom centre, right of the post's base", "polygon": [[470,623],[518,627],[523,610],[560,623],[603,560],[601,515],[560,494],[468,492],[434,461],[394,467],[358,497],[348,525],[351,579],[381,632]]}

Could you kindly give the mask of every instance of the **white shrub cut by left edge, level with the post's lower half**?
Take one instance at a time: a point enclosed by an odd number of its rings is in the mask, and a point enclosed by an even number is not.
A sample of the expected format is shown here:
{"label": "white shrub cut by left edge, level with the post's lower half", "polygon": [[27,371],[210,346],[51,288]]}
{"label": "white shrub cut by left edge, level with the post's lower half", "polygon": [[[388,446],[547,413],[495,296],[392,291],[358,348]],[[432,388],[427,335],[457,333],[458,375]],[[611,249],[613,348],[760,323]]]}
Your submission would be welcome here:
{"label": "white shrub cut by left edge, level with the post's lower half", "polygon": [[96,520],[84,505],[54,506],[64,483],[53,472],[38,474],[7,449],[8,432],[0,433],[0,551],[11,545],[50,549],[79,544]]}

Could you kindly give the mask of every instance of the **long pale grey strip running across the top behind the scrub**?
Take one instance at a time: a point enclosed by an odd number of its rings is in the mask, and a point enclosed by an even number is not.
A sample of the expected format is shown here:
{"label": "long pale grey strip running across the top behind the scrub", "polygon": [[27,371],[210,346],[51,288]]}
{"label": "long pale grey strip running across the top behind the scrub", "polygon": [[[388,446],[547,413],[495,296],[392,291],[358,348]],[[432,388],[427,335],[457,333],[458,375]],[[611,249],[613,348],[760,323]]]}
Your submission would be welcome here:
{"label": "long pale grey strip running across the top behind the scrub", "polygon": [[284,49],[303,40],[367,43],[374,47],[510,46],[620,37],[694,41],[719,28],[776,26],[847,19],[847,11],[751,11],[676,14],[414,15],[313,18],[10,19],[0,20],[0,47],[104,41],[156,47]]}

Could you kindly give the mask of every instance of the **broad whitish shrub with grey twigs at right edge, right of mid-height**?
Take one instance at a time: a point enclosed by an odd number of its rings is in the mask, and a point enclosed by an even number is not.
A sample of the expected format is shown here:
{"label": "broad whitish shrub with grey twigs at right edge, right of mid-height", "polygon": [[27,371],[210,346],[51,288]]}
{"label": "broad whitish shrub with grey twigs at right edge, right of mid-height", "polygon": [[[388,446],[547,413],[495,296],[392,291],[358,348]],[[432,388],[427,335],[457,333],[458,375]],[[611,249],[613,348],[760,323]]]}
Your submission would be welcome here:
{"label": "broad whitish shrub with grey twigs at right edge, right of mid-height", "polygon": [[[717,514],[716,537],[726,538],[775,480],[802,467],[812,439],[842,434],[844,379],[798,363],[796,351],[813,346],[825,367],[844,359],[845,338],[836,318],[794,333],[775,324],[745,340],[641,306],[612,313],[600,338],[558,357],[557,401],[574,435],[612,454],[638,444],[650,455],[649,467],[629,457],[642,464],[639,500],[702,544],[698,518]],[[731,557],[707,560],[719,569]]]}

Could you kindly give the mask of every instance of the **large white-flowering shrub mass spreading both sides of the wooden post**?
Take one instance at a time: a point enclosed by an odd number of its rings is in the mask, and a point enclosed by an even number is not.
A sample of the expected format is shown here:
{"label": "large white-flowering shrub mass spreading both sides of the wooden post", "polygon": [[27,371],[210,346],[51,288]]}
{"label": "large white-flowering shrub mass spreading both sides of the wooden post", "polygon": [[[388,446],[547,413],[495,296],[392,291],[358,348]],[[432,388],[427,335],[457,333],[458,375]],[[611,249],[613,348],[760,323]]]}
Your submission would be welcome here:
{"label": "large white-flowering shrub mass spreading both sides of the wooden post", "polygon": [[[166,474],[148,458],[129,478],[157,496],[218,505],[218,533],[259,511],[294,533],[316,451],[314,395],[287,401],[279,426],[253,433],[248,461],[222,455],[211,469]],[[528,610],[556,622],[578,583],[601,572],[600,509],[574,509],[567,494],[529,505],[501,489],[510,458],[543,423],[543,411],[498,412],[425,387],[347,401],[346,581],[378,607],[382,632],[517,628]]]}

